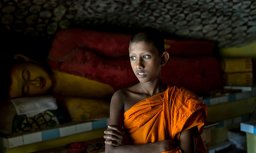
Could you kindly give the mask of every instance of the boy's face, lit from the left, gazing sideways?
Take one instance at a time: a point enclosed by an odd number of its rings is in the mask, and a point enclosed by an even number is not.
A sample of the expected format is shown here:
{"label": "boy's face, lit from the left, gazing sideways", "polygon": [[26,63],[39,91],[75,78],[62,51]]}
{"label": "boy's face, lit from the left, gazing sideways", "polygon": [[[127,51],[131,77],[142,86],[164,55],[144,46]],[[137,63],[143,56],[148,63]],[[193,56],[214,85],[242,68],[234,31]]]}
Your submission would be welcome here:
{"label": "boy's face, lit from the left, gazing sideways", "polygon": [[158,79],[161,74],[161,56],[152,43],[131,43],[129,56],[132,70],[140,82]]}

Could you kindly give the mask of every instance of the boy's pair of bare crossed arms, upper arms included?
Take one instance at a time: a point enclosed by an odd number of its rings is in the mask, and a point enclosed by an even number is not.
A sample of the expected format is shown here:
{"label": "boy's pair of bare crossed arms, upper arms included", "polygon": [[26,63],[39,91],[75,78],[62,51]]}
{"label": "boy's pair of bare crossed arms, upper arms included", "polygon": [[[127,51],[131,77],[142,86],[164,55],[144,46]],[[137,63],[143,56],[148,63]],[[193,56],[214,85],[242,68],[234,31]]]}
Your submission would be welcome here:
{"label": "boy's pair of bare crossed arms, upper arms included", "polygon": [[119,94],[114,94],[110,104],[109,126],[104,133],[106,139],[106,153],[161,153],[180,147],[183,153],[195,153],[194,129],[184,130],[180,134],[180,141],[163,140],[147,144],[132,144],[122,130],[124,103]]}

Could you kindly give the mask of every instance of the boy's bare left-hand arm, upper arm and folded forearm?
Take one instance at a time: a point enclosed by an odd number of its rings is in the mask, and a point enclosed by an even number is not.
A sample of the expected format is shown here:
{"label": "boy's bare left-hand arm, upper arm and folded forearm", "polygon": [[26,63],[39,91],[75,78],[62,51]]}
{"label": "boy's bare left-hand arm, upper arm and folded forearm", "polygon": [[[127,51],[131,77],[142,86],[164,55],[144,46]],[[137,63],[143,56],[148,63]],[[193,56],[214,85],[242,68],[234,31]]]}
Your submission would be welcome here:
{"label": "boy's bare left-hand arm, upper arm and folded forearm", "polygon": [[[123,124],[123,114],[124,114],[124,95],[122,91],[117,91],[114,93],[111,103],[110,103],[110,115],[109,115],[109,125],[114,125],[116,126],[119,130],[122,129],[122,124]],[[107,129],[107,132],[116,132],[116,130],[112,130],[110,128]],[[107,136],[107,137],[106,137]],[[117,136],[112,134],[106,135],[106,147],[105,147],[105,152],[106,153],[112,153],[112,152],[117,152],[117,153],[161,153],[164,151],[172,150],[176,147],[176,144],[172,140],[163,140],[159,142],[154,142],[154,143],[147,143],[147,144],[136,144],[136,145],[131,145],[130,142],[128,144],[130,145],[117,145],[116,139],[118,139]],[[111,137],[111,139],[110,139]],[[113,138],[114,137],[114,138]],[[109,139],[108,139],[109,138]],[[115,139],[115,140],[113,140]]]}

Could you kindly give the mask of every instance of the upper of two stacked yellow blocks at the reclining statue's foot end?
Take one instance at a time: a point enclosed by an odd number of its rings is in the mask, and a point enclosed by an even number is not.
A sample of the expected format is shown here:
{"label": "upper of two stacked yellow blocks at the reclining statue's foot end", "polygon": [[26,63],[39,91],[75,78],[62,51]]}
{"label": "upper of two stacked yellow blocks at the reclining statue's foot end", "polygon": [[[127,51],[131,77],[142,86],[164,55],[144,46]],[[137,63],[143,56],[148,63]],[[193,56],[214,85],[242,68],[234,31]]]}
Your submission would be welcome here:
{"label": "upper of two stacked yellow blocks at the reclining statue's foot end", "polygon": [[252,58],[223,59],[222,70],[226,73],[252,72]]}

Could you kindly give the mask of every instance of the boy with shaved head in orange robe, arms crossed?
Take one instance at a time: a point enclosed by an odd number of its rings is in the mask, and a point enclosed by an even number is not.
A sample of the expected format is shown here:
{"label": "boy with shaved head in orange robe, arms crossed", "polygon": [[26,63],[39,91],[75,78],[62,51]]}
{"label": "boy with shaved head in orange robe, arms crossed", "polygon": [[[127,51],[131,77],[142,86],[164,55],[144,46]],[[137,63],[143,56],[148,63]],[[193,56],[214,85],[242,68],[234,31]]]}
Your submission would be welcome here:
{"label": "boy with shaved head in orange robe, arms crossed", "polygon": [[105,152],[205,152],[200,135],[207,107],[191,91],[161,81],[169,54],[160,31],[144,28],[133,35],[129,56],[139,83],[111,99]]}

